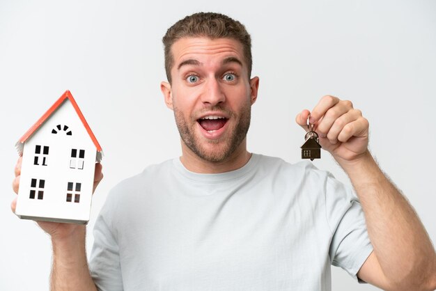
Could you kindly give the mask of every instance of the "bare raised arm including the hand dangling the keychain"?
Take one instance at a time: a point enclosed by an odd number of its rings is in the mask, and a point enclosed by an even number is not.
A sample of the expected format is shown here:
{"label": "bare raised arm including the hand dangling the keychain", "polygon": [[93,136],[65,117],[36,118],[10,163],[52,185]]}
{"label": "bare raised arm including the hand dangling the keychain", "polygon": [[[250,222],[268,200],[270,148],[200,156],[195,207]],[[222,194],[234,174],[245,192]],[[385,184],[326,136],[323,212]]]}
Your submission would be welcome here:
{"label": "bare raised arm including the hand dangling the keychain", "polygon": [[[306,129],[309,111],[297,115]],[[436,289],[436,253],[421,221],[368,152],[368,120],[349,101],[322,97],[311,113],[322,148],[348,174],[366,218],[374,251],[362,280],[385,290]]]}

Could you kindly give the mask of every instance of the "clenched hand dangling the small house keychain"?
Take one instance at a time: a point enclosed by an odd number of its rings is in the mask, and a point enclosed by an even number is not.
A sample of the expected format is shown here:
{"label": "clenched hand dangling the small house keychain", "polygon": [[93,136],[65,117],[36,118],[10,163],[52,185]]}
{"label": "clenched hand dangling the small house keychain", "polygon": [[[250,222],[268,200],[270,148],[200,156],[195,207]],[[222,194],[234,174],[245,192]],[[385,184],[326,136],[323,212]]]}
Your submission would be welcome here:
{"label": "clenched hand dangling the small house keychain", "polygon": [[305,109],[298,113],[295,121],[306,131],[309,114],[310,123],[315,125],[320,137],[320,145],[340,164],[355,161],[366,154],[369,123],[350,101],[326,95],[312,112]]}

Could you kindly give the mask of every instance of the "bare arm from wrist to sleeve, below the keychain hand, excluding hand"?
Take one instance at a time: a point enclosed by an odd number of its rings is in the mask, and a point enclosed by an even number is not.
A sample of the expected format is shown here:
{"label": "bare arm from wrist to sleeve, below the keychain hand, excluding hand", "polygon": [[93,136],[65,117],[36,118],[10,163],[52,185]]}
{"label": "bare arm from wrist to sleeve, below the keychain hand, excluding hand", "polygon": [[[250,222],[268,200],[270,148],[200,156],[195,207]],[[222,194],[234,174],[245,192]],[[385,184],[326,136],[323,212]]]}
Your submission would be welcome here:
{"label": "bare arm from wrist to sleeve, below the keychain hand, excluding hand", "polygon": [[357,276],[385,290],[435,290],[435,250],[406,198],[369,152],[340,164],[359,196],[374,247]]}

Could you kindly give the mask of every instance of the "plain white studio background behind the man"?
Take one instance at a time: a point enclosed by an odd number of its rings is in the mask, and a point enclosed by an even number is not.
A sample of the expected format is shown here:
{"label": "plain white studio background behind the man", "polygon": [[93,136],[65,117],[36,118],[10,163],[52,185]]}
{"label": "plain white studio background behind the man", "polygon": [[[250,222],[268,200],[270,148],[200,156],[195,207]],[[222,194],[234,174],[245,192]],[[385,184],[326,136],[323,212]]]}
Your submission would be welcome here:
{"label": "plain white studio background behind the man", "polygon": [[[435,1],[0,0],[0,290],[47,290],[51,264],[49,237],[10,212],[15,142],[72,92],[104,150],[92,228],[117,182],[180,155],[159,91],[161,38],[201,10],[251,33],[260,91],[250,151],[297,162],[304,132],[295,115],[322,95],[352,100],[370,121],[373,155],[436,241]],[[348,183],[326,152],[314,163]],[[88,250],[92,242],[89,231]],[[333,269],[332,290],[377,290]]]}

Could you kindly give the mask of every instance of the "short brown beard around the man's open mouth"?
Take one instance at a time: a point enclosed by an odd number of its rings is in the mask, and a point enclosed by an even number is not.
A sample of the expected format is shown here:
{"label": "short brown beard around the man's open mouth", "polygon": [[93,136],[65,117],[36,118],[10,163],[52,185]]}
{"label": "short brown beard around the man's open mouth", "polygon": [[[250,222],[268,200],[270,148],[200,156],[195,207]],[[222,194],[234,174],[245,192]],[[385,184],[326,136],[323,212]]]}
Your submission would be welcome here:
{"label": "short brown beard around the man's open mouth", "polygon": [[[248,129],[250,127],[251,120],[251,104],[247,104],[246,107],[242,109],[240,112],[240,116],[235,116],[235,113],[231,113],[232,118],[236,118],[235,120],[235,130],[231,132],[231,136],[227,140],[210,140],[208,143],[226,143],[226,146],[223,150],[219,152],[208,152],[201,146],[198,139],[196,138],[194,132],[197,120],[192,117],[189,120],[189,125],[187,120],[185,120],[182,112],[178,110],[177,107],[174,107],[174,118],[176,118],[176,125],[178,131],[180,133],[180,137],[185,145],[192,150],[198,157],[204,159],[208,162],[223,162],[231,155],[233,152],[240,146],[242,141],[244,141],[247,136]],[[210,111],[227,111],[221,107],[212,107]],[[227,111],[228,112],[228,111]]]}

